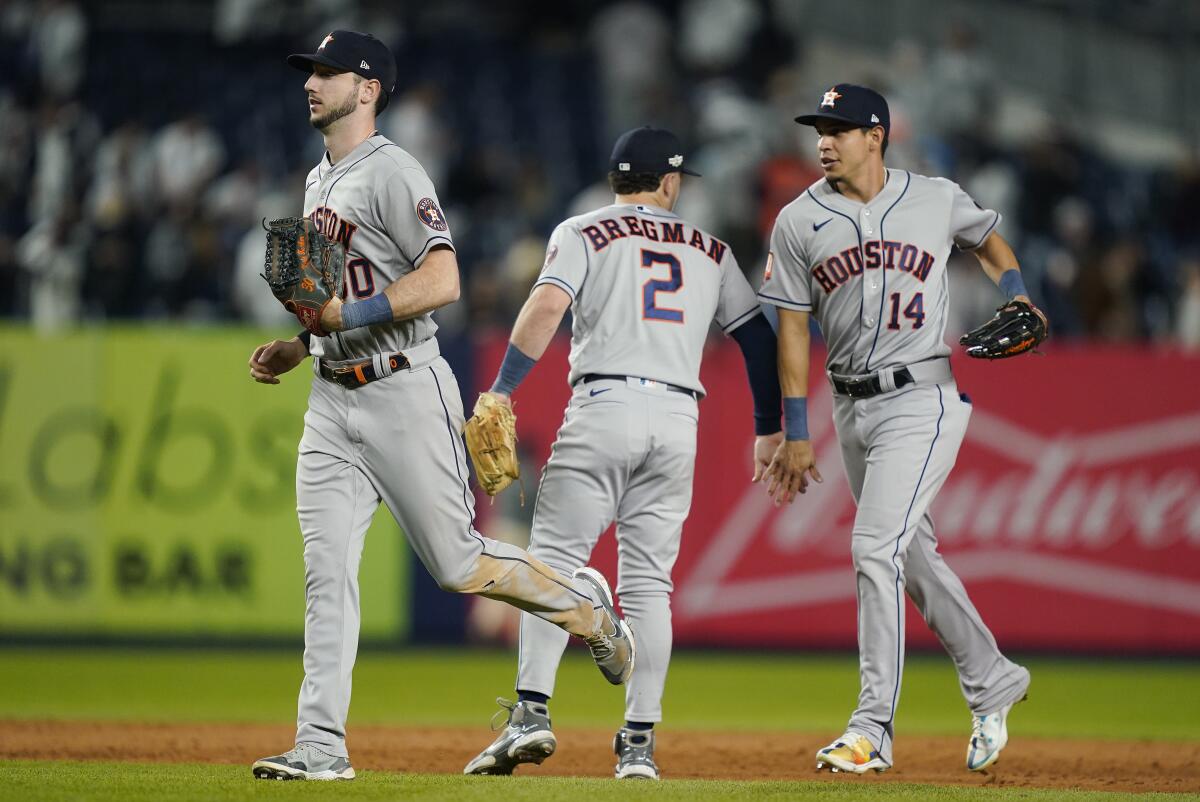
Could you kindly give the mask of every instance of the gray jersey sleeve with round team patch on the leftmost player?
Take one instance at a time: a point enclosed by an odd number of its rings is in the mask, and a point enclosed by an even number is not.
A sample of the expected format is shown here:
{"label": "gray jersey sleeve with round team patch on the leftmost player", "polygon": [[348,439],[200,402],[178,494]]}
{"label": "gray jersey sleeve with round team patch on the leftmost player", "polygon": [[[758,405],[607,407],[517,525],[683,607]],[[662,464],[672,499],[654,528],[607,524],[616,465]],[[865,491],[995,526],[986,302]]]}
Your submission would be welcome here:
{"label": "gray jersey sleeve with round team patch on the leftmost player", "polygon": [[376,203],[384,231],[413,265],[419,265],[434,245],[454,247],[450,223],[425,170],[404,167],[391,173]]}

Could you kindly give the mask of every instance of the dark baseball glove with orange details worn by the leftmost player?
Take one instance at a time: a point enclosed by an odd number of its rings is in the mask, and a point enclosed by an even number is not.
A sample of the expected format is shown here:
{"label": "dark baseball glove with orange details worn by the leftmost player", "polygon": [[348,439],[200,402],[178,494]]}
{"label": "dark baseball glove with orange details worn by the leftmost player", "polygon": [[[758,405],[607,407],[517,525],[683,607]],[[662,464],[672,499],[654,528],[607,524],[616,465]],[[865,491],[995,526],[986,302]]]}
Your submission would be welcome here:
{"label": "dark baseball glove with orange details worn by the leftmost player", "polygon": [[311,220],[283,217],[266,229],[266,273],[271,293],[319,337],[329,336],[320,313],[330,299],[341,297],[346,249],[326,239]]}

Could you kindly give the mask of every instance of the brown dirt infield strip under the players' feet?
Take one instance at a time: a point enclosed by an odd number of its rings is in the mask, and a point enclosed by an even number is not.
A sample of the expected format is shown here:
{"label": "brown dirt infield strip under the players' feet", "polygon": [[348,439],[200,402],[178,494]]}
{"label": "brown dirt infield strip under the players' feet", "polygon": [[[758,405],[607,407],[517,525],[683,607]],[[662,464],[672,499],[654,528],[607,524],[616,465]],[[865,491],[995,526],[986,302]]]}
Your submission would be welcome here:
{"label": "brown dirt infield strip under the players' feet", "polygon": [[[558,753],[524,776],[612,776],[612,734],[557,730]],[[258,724],[137,724],[0,722],[0,759],[130,760],[245,764],[292,743],[290,726]],[[458,773],[491,740],[486,729],[354,728],[350,753],[360,770]],[[962,765],[966,736],[905,736],[896,767],[864,777],[816,773],[822,736],[792,732],[664,731],[658,761],[666,778],[839,783],[995,784],[1100,791],[1200,791],[1200,743],[1060,741],[1018,736],[986,774]]]}

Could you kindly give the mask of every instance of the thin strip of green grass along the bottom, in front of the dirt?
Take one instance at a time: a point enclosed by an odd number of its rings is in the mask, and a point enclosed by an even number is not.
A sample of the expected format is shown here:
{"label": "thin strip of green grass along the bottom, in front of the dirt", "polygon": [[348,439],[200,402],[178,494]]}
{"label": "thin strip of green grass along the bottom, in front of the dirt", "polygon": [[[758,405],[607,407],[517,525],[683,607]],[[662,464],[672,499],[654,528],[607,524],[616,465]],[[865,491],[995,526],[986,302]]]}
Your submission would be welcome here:
{"label": "thin strip of green grass along the bottom, in front of the dirt", "polygon": [[661,784],[614,783],[611,779],[558,777],[449,777],[362,772],[353,783],[265,783],[242,766],[148,765],[102,762],[0,761],[0,800],[22,802],[232,802],[240,800],[455,800],[463,802],[628,802],[662,800],[900,800],[956,802],[988,797],[1016,800],[1181,800],[1171,794],[1106,794],[1003,788],[956,788],[856,783],[730,783],[676,780]]}

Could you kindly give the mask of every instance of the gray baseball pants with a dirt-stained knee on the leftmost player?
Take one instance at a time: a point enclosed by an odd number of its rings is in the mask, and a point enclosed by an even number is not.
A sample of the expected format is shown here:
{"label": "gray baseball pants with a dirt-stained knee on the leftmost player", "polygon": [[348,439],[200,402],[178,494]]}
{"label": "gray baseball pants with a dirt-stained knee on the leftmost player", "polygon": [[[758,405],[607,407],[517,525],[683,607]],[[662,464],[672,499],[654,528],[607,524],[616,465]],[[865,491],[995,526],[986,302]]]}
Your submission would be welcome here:
{"label": "gray baseball pants with a dirt-stained knee on the leftmost player", "polygon": [[444,589],[508,602],[564,639],[596,629],[587,585],[475,531],[458,384],[436,340],[404,353],[409,369],[355,389],[314,377],[300,441],[306,609],[296,743],[334,755],[347,754],[359,563],[380,501]]}

